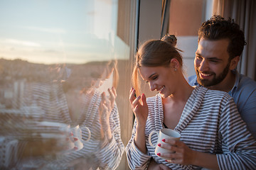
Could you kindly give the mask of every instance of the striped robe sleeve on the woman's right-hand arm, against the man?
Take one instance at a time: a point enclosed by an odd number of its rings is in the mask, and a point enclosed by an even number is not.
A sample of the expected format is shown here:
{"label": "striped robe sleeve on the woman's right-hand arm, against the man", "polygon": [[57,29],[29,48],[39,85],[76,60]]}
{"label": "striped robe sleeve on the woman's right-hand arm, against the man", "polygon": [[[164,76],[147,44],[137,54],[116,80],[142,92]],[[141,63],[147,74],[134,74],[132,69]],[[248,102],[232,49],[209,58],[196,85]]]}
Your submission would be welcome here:
{"label": "striped robe sleeve on the woman's right-hand arm, against the man", "polygon": [[220,169],[255,169],[256,142],[240,117],[233,98],[220,115],[222,154],[217,154]]}

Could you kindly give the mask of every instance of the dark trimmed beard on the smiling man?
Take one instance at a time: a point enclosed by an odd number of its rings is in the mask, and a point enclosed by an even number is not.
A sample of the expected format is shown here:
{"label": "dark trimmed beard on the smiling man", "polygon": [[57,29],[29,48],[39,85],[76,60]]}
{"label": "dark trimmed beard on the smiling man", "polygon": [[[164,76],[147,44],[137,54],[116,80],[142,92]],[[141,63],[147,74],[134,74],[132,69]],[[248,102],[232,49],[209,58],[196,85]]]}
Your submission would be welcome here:
{"label": "dark trimmed beard on the smiling man", "polygon": [[216,77],[216,74],[214,72],[203,72],[205,74],[213,74],[212,80],[201,79],[199,75],[198,67],[196,67],[196,77],[197,77],[198,84],[205,87],[215,86],[216,84],[219,84],[228,75],[229,67],[230,67],[230,62],[228,62],[227,66],[225,67],[225,69],[223,69],[223,72],[221,72],[221,74],[218,77]]}

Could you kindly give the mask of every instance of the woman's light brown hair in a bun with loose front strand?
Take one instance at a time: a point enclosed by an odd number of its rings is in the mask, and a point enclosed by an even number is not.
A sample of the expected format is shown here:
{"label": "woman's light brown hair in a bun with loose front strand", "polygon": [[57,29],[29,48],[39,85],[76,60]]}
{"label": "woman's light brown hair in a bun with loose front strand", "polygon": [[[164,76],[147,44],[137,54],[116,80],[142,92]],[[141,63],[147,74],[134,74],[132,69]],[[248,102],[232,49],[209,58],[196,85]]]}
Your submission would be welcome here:
{"label": "woman's light brown hair in a bun with loose front strand", "polygon": [[139,92],[138,69],[140,67],[169,67],[173,58],[178,60],[182,67],[182,57],[175,46],[177,39],[175,35],[165,35],[161,40],[148,40],[139,47],[136,55],[136,63],[132,73],[132,86]]}

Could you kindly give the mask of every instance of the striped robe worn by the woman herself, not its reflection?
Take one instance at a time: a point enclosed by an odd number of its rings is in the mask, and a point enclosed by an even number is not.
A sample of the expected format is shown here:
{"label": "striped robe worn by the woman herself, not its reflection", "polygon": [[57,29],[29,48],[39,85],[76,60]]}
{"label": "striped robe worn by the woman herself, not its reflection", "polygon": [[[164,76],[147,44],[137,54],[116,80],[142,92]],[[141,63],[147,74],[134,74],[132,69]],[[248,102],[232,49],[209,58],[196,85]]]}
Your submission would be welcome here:
{"label": "striped robe worn by the woman herself, not its reflection", "polygon": [[[194,165],[180,165],[165,162],[154,154],[149,145],[152,130],[164,128],[164,111],[161,95],[146,99],[149,115],[146,121],[145,137],[147,154],[134,144],[137,121],[134,121],[132,137],[126,152],[131,169],[146,169],[151,158],[158,164],[171,169],[202,169]],[[196,87],[183,109],[181,118],[174,128],[181,134],[181,141],[198,152],[216,154],[220,169],[256,169],[256,142],[235,106],[233,98],[223,91],[212,91]],[[157,135],[151,137],[156,144]]]}

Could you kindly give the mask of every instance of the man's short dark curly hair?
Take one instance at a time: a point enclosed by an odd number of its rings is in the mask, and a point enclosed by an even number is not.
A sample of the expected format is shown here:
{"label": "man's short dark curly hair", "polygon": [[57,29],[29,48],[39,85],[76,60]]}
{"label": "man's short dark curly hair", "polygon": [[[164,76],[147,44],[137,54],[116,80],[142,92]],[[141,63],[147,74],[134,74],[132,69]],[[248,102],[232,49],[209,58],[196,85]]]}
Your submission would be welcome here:
{"label": "man's short dark curly hair", "polygon": [[206,40],[222,40],[228,39],[228,54],[229,60],[242,54],[245,42],[245,35],[234,20],[228,18],[225,20],[223,17],[215,15],[208,21],[202,23],[198,30],[198,42],[201,38]]}

